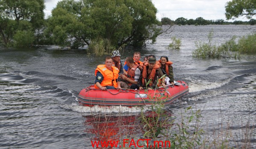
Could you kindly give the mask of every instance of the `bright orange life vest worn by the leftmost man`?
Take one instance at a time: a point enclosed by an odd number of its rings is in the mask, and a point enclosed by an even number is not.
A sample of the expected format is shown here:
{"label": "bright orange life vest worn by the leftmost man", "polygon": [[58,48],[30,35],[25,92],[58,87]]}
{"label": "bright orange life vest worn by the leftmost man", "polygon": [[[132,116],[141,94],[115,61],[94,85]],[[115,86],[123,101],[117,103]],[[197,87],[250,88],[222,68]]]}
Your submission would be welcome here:
{"label": "bright orange life vest worn by the leftmost man", "polygon": [[[118,83],[116,79],[118,79],[119,70],[117,67],[112,66],[112,71],[109,70],[105,64],[100,64],[97,66],[95,70],[95,76],[97,72],[100,72],[103,76],[103,81],[100,83],[101,86],[114,86],[115,88],[118,87]],[[95,88],[98,88],[96,84],[94,85]]]}

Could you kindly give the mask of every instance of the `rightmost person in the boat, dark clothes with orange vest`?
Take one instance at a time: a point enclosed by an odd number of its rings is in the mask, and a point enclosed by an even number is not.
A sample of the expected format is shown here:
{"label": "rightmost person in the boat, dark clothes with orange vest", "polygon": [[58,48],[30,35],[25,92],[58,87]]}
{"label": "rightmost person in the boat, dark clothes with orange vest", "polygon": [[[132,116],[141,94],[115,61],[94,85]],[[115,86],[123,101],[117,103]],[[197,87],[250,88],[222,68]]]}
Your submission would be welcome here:
{"label": "rightmost person in the boat, dark clothes with orange vest", "polygon": [[165,84],[166,85],[174,85],[174,73],[173,67],[171,66],[173,62],[168,61],[167,56],[161,56],[159,60],[159,66],[162,69],[162,72],[166,75],[165,77]]}

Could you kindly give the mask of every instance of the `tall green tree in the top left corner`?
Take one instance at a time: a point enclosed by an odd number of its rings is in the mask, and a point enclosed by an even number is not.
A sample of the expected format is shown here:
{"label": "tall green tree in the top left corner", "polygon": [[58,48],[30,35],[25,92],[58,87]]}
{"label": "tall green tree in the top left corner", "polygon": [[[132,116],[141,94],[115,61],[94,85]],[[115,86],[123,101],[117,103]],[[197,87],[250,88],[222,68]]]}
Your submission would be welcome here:
{"label": "tall green tree in the top left corner", "polygon": [[[18,31],[35,33],[44,23],[44,8],[44,0],[0,0],[0,36],[3,44],[11,46]],[[18,35],[16,39],[21,39]]]}

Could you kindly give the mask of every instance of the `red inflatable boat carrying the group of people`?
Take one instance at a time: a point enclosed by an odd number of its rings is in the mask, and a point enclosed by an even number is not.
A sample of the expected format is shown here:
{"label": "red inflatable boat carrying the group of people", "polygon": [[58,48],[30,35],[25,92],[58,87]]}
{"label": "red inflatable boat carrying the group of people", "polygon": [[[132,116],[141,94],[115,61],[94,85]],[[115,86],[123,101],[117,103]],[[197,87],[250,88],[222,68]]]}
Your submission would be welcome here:
{"label": "red inflatable boat carrying the group of people", "polygon": [[95,89],[89,86],[80,91],[79,103],[85,106],[94,105],[122,105],[122,106],[140,106],[151,105],[162,101],[164,104],[170,104],[177,98],[188,93],[188,85],[183,81],[175,82],[174,86],[159,88],[156,90],[106,90]]}

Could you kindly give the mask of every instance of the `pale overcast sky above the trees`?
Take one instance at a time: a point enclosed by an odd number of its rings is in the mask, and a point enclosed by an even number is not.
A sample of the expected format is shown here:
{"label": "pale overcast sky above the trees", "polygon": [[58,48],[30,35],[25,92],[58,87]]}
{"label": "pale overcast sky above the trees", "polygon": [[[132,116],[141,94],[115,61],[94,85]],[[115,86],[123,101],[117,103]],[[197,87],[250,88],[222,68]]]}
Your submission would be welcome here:
{"label": "pale overcast sky above the trees", "polygon": [[[60,0],[44,1],[46,6],[44,13],[47,17]],[[171,20],[176,20],[180,17],[194,20],[198,17],[202,17],[205,20],[226,20],[225,4],[228,1],[231,0],[152,0],[152,3],[158,10],[156,14],[158,20],[164,17],[170,18]],[[236,20],[248,21],[246,18]]]}

